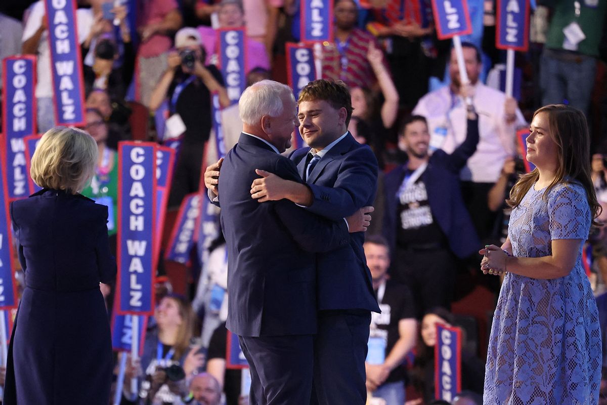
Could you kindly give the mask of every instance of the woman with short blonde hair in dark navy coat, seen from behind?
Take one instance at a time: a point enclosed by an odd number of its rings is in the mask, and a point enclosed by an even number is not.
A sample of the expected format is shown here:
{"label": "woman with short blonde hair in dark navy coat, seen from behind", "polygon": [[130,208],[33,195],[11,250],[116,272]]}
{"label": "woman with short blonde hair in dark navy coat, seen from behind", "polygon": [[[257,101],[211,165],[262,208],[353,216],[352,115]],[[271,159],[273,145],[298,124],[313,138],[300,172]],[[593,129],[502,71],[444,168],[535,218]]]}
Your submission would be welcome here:
{"label": "woman with short blonde hair in dark navy coat, seen from behind", "polygon": [[99,283],[114,280],[116,263],[107,207],[78,194],[96,165],[89,134],[52,128],[32,157],[32,179],[43,189],[10,205],[25,289],[8,348],[5,405],[109,403],[112,343]]}

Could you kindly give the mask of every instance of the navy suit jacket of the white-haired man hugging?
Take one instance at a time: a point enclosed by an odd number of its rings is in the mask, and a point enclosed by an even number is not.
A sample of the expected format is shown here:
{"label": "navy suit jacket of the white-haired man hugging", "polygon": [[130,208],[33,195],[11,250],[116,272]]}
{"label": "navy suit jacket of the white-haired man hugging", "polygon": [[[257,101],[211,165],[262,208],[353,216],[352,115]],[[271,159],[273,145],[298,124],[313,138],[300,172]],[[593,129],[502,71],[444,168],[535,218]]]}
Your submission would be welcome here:
{"label": "navy suit jacket of the white-haired man hugging", "polygon": [[219,175],[220,220],[228,246],[229,330],[240,336],[316,333],[316,255],[348,244],[344,220],[331,221],[288,200],[259,203],[255,169],[302,182],[293,162],[241,134]]}

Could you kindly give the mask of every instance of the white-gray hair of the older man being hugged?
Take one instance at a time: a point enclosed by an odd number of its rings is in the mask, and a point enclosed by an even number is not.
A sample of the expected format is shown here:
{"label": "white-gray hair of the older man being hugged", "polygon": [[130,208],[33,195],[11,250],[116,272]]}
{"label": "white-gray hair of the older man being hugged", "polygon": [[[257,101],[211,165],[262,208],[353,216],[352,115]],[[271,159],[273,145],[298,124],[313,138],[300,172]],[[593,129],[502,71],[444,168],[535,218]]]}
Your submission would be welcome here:
{"label": "white-gray hair of the older man being hugged", "polygon": [[238,102],[240,120],[245,124],[255,125],[263,115],[278,117],[283,112],[282,101],[285,98],[291,98],[295,103],[293,90],[286,84],[273,80],[253,83],[240,96]]}

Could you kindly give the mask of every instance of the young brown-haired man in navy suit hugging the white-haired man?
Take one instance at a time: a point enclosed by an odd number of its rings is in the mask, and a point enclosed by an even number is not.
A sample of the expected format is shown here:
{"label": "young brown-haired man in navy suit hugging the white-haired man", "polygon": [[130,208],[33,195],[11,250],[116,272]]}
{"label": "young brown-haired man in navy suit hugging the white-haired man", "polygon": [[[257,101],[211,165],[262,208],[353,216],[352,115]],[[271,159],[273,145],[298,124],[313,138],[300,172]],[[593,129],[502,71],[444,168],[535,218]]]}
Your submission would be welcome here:
{"label": "young brown-haired man in navy suit hugging the white-haired man", "polygon": [[[310,147],[290,158],[306,183],[258,170],[262,178],[253,182],[252,197],[259,202],[286,198],[333,220],[371,205],[378,163],[371,149],[347,131],[352,114],[348,88],[341,81],[313,81],[302,89],[298,105],[299,132]],[[314,389],[323,405],[363,405],[367,398],[369,324],[371,311],[379,307],[362,248],[364,234],[351,233],[349,242],[317,256]]]}

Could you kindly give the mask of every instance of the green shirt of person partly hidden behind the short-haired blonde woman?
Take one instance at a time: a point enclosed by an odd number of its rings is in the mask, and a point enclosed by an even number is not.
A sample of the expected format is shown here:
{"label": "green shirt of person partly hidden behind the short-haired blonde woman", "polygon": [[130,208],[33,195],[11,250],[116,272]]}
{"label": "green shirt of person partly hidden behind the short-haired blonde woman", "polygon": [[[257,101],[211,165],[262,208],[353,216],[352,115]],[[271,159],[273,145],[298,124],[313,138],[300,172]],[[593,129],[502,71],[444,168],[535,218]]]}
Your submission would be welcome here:
{"label": "green shirt of person partly hidden behind the short-haired blonde woman", "polygon": [[[103,168],[98,167],[89,186],[83,189],[81,194],[104,205],[106,202],[109,203],[109,199],[112,200],[112,206],[107,208],[112,215],[112,220],[107,223],[107,234],[114,235],[118,227],[118,154],[109,148],[106,150],[109,151],[110,160],[114,162],[112,170],[104,174]],[[112,229],[110,229],[111,225],[114,225]]]}

